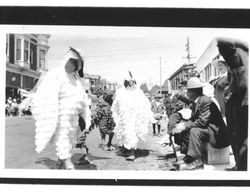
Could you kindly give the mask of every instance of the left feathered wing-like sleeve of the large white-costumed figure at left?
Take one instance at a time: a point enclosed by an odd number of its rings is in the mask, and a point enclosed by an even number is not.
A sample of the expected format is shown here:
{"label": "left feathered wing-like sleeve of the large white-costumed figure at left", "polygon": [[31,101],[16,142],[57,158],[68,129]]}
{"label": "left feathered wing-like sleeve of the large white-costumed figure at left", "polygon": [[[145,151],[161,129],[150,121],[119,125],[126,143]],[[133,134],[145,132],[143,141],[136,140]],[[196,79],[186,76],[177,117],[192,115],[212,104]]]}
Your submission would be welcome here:
{"label": "left feathered wing-like sleeve of the large white-costumed figure at left", "polygon": [[32,114],[35,119],[35,144],[38,153],[43,151],[55,132],[60,87],[60,80],[52,71],[44,77],[33,95]]}

